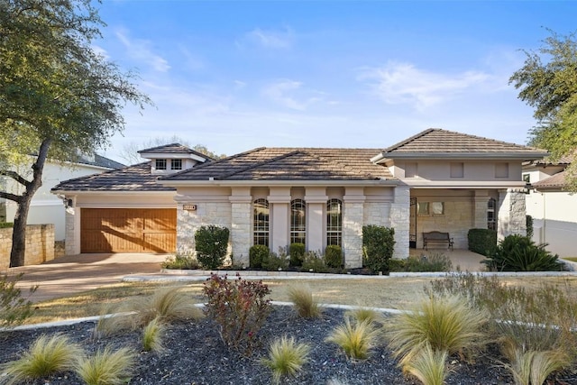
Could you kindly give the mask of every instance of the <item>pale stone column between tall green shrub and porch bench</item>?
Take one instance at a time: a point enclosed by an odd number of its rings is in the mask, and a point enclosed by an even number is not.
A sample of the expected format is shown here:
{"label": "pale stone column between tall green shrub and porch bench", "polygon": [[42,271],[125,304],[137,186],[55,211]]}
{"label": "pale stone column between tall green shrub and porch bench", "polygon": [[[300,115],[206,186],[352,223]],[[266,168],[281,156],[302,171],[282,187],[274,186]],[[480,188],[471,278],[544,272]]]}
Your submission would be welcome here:
{"label": "pale stone column between tall green shrub and porch bench", "polygon": [[390,205],[390,226],[395,229],[395,250],[393,258],[408,258],[408,238],[410,225],[410,188],[397,186],[394,200]]}

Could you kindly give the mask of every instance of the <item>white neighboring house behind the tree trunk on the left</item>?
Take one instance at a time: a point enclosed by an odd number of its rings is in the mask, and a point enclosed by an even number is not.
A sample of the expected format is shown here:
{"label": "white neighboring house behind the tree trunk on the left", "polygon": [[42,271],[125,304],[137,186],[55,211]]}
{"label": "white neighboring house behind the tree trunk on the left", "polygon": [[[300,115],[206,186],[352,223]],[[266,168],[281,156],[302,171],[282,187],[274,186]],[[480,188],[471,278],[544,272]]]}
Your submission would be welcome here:
{"label": "white neighboring house behind the tree trunk on the left", "polygon": [[[32,163],[31,163],[32,164]],[[26,166],[29,170],[30,167]],[[50,189],[62,180],[78,178],[95,173],[124,168],[124,164],[107,159],[100,155],[82,156],[74,163],[59,163],[46,160],[42,171],[42,186],[32,197],[28,213],[28,225],[54,225],[54,239],[63,241],[65,238],[65,210],[62,198],[50,194]],[[24,166],[22,166],[24,168]],[[24,170],[27,171],[27,170]],[[22,173],[21,173],[22,174]],[[0,177],[1,178],[1,177]],[[5,177],[6,190],[22,195],[23,187],[12,179]],[[5,200],[5,221],[13,222],[17,205],[12,200]]]}

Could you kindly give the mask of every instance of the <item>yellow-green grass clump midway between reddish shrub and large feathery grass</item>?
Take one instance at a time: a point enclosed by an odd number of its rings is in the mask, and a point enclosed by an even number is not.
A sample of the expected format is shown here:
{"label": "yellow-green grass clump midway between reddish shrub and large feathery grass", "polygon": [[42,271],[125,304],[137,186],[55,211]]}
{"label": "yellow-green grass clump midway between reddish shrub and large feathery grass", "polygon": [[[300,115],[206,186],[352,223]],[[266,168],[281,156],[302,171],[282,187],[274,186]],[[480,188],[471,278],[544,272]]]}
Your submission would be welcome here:
{"label": "yellow-green grass clump midway between reddish shrub and large feathery grass", "polygon": [[347,356],[364,360],[378,343],[379,332],[368,321],[352,322],[347,317],[343,325],[334,328],[326,341],[339,345]]}

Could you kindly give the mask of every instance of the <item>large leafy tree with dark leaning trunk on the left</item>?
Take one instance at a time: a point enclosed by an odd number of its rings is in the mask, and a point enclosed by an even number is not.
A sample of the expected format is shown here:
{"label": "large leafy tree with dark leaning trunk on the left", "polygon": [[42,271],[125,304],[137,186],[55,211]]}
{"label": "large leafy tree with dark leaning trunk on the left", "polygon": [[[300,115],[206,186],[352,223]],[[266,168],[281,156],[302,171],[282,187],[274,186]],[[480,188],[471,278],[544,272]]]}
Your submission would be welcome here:
{"label": "large leafy tree with dark leaning trunk on the left", "polygon": [[[124,128],[127,102],[151,103],[133,72],[92,49],[104,25],[92,3],[0,0],[0,175],[23,187],[22,194],[0,191],[17,204],[11,267],[24,262],[28,210],[46,159],[105,148]],[[15,171],[31,155],[31,175]]]}

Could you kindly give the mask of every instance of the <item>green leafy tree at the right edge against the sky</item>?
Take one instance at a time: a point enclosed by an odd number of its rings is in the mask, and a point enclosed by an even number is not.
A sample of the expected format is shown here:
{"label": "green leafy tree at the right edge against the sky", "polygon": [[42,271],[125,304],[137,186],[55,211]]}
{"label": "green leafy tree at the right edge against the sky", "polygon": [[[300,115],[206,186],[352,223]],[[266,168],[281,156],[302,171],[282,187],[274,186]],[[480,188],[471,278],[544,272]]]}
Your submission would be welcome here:
{"label": "green leafy tree at the right edge against the sky", "polygon": [[[518,97],[535,108],[537,125],[530,143],[551,152],[551,160],[577,150],[577,41],[575,33],[555,32],[535,52],[524,50],[527,58],[509,79]],[[577,191],[577,160],[567,169],[568,189]]]}

